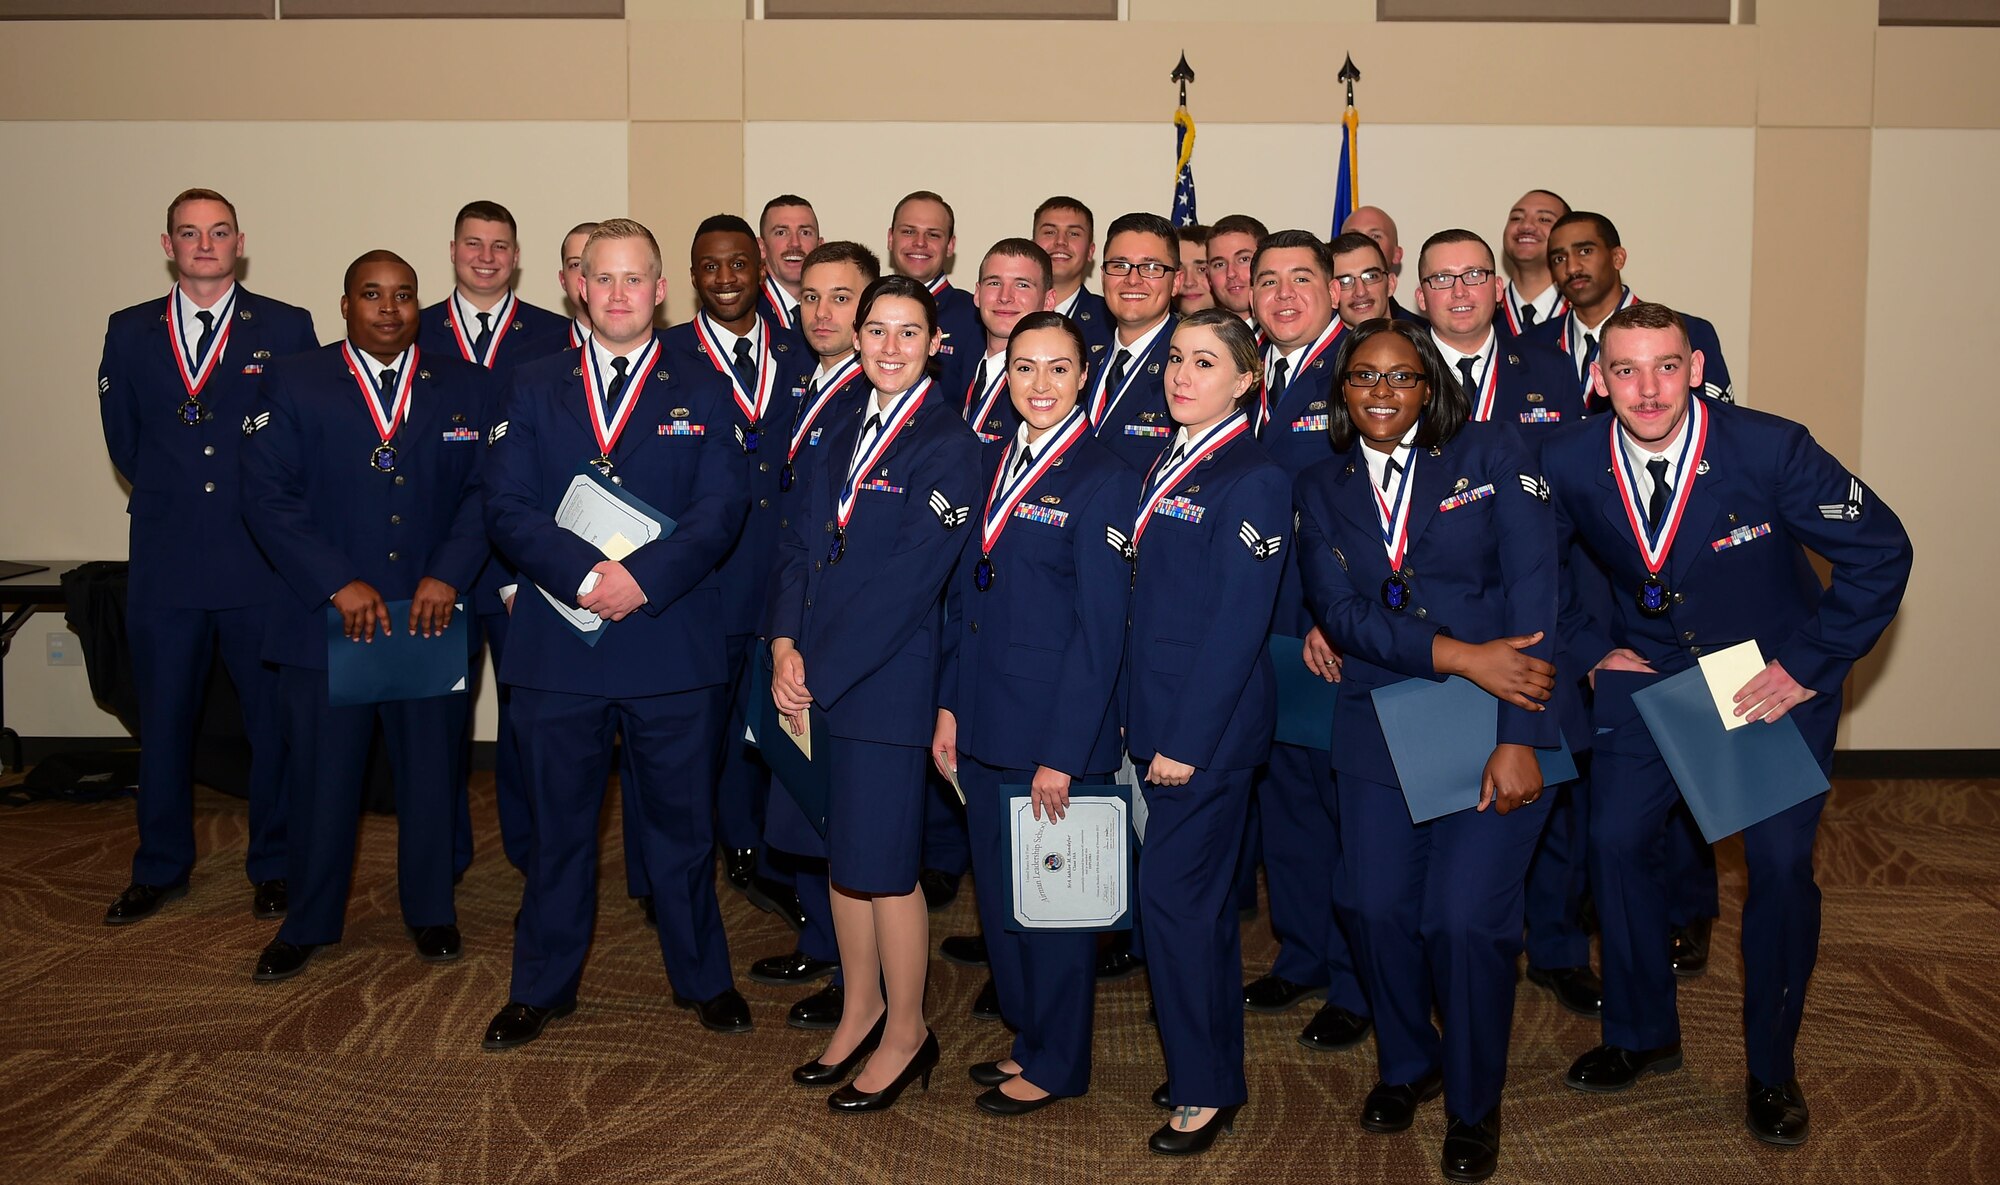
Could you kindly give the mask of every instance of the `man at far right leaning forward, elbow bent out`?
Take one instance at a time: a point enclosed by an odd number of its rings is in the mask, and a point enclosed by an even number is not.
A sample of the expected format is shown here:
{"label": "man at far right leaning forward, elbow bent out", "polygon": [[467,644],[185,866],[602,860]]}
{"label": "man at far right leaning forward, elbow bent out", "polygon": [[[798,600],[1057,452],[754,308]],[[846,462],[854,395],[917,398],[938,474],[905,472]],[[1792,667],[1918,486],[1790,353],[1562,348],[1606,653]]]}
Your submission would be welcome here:
{"label": "man at far right leaning forward, elbow bent out", "polygon": [[[1770,659],[1732,695],[1752,723],[1796,721],[1832,765],[1840,687],[1896,617],[1910,536],[1804,426],[1690,394],[1706,358],[1680,314],[1632,304],[1604,324],[1590,372],[1614,420],[1550,440],[1542,462],[1558,528],[1612,584],[1608,615],[1566,617],[1596,663],[1592,883],[1604,923],[1604,1043],[1570,1067],[1580,1091],[1622,1091],[1682,1065],[1658,851],[1680,803],[1632,693],[1710,651],[1756,641]],[[1808,548],[1832,564],[1820,584]],[[1752,725],[1754,727],[1754,725]],[[1766,1143],[1806,1139],[1792,1047],[1818,957],[1812,845],[1826,795],[1748,827],[1744,863],[1744,1119]]]}

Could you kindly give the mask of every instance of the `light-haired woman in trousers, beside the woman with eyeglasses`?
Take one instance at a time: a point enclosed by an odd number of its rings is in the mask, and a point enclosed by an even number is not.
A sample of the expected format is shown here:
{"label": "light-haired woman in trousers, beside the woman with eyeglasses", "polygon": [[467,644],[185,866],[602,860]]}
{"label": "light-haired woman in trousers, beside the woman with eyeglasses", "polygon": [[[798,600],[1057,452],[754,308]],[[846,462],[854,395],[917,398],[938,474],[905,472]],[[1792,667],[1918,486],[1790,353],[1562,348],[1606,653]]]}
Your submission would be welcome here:
{"label": "light-haired woman in trousers, beside the woman with eyeglasses", "polygon": [[1148,1147],[1206,1151],[1236,1121],[1244,1083],[1236,857],[1250,775],[1270,755],[1276,683],[1266,637],[1290,546],[1290,478],[1256,444],[1246,404],[1256,338],[1206,308],[1174,328],[1166,404],[1176,430],[1108,538],[1134,560],[1126,747],[1144,773],[1140,925],[1172,1111]]}

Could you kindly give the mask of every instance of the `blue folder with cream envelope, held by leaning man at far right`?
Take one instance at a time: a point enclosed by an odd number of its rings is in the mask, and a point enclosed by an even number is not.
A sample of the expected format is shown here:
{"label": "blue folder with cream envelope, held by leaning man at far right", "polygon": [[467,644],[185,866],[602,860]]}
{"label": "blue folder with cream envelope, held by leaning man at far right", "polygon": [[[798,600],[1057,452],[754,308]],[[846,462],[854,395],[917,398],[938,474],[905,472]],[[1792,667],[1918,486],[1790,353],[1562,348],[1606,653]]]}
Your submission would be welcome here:
{"label": "blue folder with cream envelope, held by leaning man at far right", "polygon": [[1632,707],[1708,843],[1826,793],[1826,773],[1792,717],[1724,729],[1700,667],[1634,691]]}

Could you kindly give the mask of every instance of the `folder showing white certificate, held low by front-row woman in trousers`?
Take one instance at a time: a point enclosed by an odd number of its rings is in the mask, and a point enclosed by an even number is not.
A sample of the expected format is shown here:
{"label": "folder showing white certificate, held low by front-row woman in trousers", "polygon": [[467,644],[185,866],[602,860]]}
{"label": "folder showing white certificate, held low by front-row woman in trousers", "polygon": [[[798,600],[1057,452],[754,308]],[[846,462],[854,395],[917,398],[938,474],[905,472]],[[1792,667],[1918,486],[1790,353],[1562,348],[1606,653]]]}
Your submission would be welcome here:
{"label": "folder showing white certificate, held low by front-row woman in trousers", "polygon": [[[1000,811],[1000,845],[1008,861],[1006,929],[1016,933],[1034,931],[1128,931],[1132,929],[1132,905],[1138,901],[1138,879],[1134,877],[1134,837],[1132,837],[1132,787],[1120,783],[1084,785],[1070,783],[1070,817],[1082,819],[1076,799],[1118,799],[1124,803],[1122,835],[1090,835],[1074,841],[1050,843],[1050,835],[1034,819],[1034,791],[1030,787],[1000,787],[996,809]],[[1014,845],[1014,817],[1022,827],[1032,829],[1028,843],[1036,845],[1034,865],[1028,855]],[[1068,821],[1066,821],[1068,823]],[[1060,835],[1060,831],[1058,831]],[[1102,843],[1086,843],[1102,841]],[[1106,855],[1104,845],[1116,845],[1122,855]],[[1080,865],[1080,867],[1078,867]],[[1060,909],[1062,921],[1022,921],[1022,905],[1044,897],[1038,885],[1048,885],[1056,893],[1068,889],[1076,897]],[[1054,897],[1054,893],[1048,893]],[[1122,897],[1124,909],[1116,909],[1108,899]],[[1098,905],[1102,903],[1102,907]],[[1046,909],[1046,907],[1044,907]]]}

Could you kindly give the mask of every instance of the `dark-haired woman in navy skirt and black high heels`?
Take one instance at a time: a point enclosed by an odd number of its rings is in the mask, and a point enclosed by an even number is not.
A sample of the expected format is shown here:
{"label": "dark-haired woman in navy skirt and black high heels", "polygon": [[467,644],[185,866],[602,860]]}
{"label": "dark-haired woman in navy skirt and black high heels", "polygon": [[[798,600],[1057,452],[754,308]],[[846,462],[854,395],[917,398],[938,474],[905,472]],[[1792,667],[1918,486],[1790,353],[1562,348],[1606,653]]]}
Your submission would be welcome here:
{"label": "dark-haired woman in navy skirt and black high heels", "polygon": [[924,1023],[930,927],[916,889],[924,753],[936,715],[940,595],[972,534],[978,438],[950,398],[930,398],[938,306],[882,276],[856,306],[866,398],[828,426],[780,540],[770,625],[772,701],[800,731],[824,721],[826,859],[846,1007],[826,1051],[792,1071],[832,1085],[874,1051],[834,1111],[882,1111],[930,1085]]}

